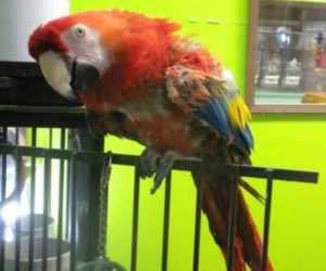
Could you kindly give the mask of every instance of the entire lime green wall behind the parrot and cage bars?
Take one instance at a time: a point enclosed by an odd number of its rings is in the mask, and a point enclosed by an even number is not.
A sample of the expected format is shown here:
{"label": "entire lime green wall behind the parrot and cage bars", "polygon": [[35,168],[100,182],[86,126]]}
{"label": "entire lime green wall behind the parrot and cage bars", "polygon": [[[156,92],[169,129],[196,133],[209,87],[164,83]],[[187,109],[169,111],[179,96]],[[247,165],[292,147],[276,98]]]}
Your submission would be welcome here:
{"label": "entire lime green wall behind the parrot and cage bars", "polygon": [[[168,4],[170,3],[170,4]],[[72,11],[90,9],[128,9],[150,16],[171,17],[184,25],[184,33],[198,34],[236,76],[244,89],[248,3],[243,0],[202,1],[72,1]],[[189,23],[198,21],[198,23]],[[220,21],[220,25],[206,20]],[[254,115],[251,127],[255,136],[255,165],[299,168],[321,171],[319,184],[276,183],[273,197],[269,254],[279,271],[326,270],[326,120],[325,115]],[[139,154],[141,146],[113,137],[106,149],[116,153]],[[195,196],[188,175],[173,172],[171,238],[168,270],[189,271],[192,262]],[[263,190],[262,182],[252,180]],[[133,171],[114,167],[109,214],[109,255],[129,267],[131,240]],[[149,191],[152,182],[141,181],[139,214],[138,270],[160,270],[164,186],[155,195]],[[248,197],[250,209],[262,225],[263,206]],[[218,248],[208,231],[203,217],[200,270],[223,270]]]}

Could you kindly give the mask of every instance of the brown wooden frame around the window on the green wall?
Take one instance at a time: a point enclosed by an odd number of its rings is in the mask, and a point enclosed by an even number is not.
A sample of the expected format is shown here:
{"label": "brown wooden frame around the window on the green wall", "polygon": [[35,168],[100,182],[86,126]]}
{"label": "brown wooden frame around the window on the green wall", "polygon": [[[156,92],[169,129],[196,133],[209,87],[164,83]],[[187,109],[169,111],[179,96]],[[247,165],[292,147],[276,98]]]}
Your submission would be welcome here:
{"label": "brown wooden frame around the window on the green wall", "polygon": [[249,2],[246,102],[250,111],[252,113],[326,113],[326,104],[254,104],[254,76],[260,0],[250,0]]}

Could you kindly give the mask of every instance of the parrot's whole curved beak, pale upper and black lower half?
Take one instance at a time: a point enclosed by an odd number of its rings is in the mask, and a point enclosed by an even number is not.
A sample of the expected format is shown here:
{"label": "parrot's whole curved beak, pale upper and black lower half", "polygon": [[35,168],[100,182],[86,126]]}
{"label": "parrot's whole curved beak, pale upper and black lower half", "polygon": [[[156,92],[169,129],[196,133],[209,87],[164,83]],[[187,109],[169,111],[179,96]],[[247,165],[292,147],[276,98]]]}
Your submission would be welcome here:
{"label": "parrot's whole curved beak, pale upper and black lower half", "polygon": [[40,54],[38,62],[51,88],[71,101],[79,100],[78,92],[91,89],[100,79],[93,65],[67,54],[48,51]]}

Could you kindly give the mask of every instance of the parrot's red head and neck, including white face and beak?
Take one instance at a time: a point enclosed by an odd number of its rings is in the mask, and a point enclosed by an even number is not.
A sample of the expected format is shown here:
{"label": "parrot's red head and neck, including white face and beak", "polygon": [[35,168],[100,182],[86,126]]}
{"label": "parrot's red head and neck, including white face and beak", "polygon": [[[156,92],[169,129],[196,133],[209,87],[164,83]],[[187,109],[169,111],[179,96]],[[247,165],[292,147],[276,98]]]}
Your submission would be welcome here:
{"label": "parrot's red head and neck, including white face and beak", "polygon": [[111,92],[124,92],[143,79],[163,78],[171,34],[178,28],[131,12],[85,12],[38,27],[28,49],[54,90],[96,107],[95,99],[110,99],[110,93],[103,93],[108,85]]}

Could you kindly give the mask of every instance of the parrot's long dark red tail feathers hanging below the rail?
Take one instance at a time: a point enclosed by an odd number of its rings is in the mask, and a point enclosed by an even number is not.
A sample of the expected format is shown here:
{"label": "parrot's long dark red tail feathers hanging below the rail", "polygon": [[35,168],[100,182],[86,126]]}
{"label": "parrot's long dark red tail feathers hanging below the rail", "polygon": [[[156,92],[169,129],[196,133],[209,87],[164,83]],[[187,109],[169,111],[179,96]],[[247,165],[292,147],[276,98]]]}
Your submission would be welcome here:
{"label": "parrot's long dark red tail feathers hanging below the rail", "polygon": [[[202,185],[202,209],[206,214],[212,235],[227,261],[227,234],[229,215],[229,182],[211,176],[200,176]],[[198,177],[196,180],[199,180]],[[197,183],[198,185],[198,183]],[[251,271],[261,267],[262,242],[251,218],[240,189],[238,190],[237,223],[234,245],[234,271]],[[267,260],[266,271],[273,271]]]}

